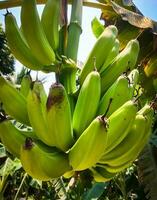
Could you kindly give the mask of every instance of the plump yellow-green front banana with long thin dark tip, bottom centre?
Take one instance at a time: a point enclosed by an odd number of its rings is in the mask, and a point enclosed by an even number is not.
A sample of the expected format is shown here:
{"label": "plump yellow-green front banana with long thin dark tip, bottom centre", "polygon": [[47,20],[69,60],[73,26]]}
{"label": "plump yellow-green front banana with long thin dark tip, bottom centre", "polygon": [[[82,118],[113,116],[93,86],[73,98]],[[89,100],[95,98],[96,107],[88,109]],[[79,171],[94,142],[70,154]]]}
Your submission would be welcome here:
{"label": "plump yellow-green front banana with long thin dark tip, bottom centre", "polygon": [[69,162],[75,171],[95,165],[106,146],[107,121],[104,116],[95,118],[69,150]]}

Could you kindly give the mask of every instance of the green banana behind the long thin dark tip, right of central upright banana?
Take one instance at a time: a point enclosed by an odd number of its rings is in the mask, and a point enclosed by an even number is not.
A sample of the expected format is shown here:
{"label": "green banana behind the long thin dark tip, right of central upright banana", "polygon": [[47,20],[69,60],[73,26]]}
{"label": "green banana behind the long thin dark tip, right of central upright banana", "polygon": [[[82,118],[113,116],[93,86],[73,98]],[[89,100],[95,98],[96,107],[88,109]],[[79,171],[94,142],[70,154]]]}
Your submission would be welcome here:
{"label": "green banana behind the long thin dark tip, right of central upright banana", "polygon": [[121,75],[101,98],[97,115],[106,113],[106,117],[109,117],[125,102],[132,99],[131,89],[128,78]]}

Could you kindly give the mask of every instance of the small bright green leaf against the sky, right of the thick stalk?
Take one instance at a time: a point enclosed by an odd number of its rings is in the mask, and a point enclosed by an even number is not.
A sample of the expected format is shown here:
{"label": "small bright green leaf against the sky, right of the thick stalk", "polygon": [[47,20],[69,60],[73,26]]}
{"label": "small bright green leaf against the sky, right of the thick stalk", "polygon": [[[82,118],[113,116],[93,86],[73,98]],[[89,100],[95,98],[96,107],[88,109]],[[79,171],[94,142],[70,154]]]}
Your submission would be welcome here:
{"label": "small bright green leaf against the sky, right of the thick stalk", "polygon": [[96,17],[92,20],[91,26],[93,34],[96,38],[98,38],[105,29],[105,27],[100,23],[100,21]]}

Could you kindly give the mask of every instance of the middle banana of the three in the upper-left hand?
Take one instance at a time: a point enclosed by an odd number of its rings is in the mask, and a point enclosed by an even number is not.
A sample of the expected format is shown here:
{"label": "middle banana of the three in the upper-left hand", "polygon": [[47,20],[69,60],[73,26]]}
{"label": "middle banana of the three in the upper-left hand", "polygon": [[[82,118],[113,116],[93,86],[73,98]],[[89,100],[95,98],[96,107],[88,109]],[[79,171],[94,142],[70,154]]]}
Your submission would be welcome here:
{"label": "middle banana of the three in the upper-left hand", "polygon": [[47,41],[40,22],[36,0],[22,1],[21,24],[26,41],[35,58],[43,65],[50,65],[55,62],[54,51]]}

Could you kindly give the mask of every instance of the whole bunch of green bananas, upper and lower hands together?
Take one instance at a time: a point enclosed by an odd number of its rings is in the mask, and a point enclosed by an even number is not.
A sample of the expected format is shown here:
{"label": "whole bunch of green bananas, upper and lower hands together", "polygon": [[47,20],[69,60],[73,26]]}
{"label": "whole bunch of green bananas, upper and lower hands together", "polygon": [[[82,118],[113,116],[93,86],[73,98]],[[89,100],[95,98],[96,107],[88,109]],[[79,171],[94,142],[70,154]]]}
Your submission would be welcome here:
{"label": "whole bunch of green bananas, upper and lower hands together", "polygon": [[[5,16],[14,56],[30,69],[55,71],[56,77],[59,11],[60,1],[48,0],[40,20],[35,0],[23,0],[21,28],[11,13]],[[136,98],[139,43],[130,40],[120,51],[117,34],[111,25],[97,39],[83,68],[72,77],[75,94],[67,92],[64,81],[59,83],[60,77],[47,95],[43,83],[30,75],[20,90],[0,76],[6,114],[0,113],[0,138],[32,177],[47,181],[89,169],[95,181],[108,181],[131,165],[148,142],[153,108],[149,102],[142,107]],[[66,68],[62,76],[68,73]],[[10,117],[32,131],[20,130]]]}

